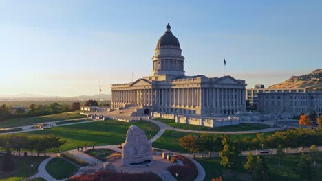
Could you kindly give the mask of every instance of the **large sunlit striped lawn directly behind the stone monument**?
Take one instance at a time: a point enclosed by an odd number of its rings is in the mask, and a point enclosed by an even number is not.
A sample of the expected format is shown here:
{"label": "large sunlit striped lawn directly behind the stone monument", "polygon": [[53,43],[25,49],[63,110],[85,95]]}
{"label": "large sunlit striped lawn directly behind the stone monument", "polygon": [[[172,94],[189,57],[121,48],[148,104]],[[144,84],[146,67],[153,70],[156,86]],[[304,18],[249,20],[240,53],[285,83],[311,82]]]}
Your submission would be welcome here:
{"label": "large sunlit striped lawn directly behind the stone monument", "polygon": [[[26,134],[54,134],[66,139],[65,145],[61,146],[61,151],[76,149],[80,147],[92,147],[92,145],[118,145],[125,143],[127,130],[130,125],[137,125],[144,130],[148,138],[149,135],[154,136],[159,127],[147,121],[134,121],[125,123],[122,121],[97,121],[92,123],[82,123],[75,125],[66,125],[61,127],[52,127],[49,130],[39,130],[35,132],[27,132]],[[83,148],[84,150],[84,148]]]}

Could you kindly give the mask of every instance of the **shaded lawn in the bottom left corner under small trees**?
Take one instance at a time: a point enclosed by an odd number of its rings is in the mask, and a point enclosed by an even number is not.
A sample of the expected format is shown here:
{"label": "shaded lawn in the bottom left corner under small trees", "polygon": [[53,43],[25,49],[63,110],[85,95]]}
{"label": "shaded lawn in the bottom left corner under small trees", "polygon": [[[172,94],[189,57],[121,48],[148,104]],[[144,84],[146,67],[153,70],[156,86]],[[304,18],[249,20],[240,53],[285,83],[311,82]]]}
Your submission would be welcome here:
{"label": "shaded lawn in the bottom left corner under small trees", "polygon": [[16,163],[16,169],[3,172],[2,171],[2,163],[3,163],[3,155],[0,156],[0,180],[1,181],[20,181],[23,178],[27,178],[31,176],[31,167],[30,165],[34,165],[33,173],[38,172],[39,164],[45,160],[46,156],[14,156],[14,162]]}

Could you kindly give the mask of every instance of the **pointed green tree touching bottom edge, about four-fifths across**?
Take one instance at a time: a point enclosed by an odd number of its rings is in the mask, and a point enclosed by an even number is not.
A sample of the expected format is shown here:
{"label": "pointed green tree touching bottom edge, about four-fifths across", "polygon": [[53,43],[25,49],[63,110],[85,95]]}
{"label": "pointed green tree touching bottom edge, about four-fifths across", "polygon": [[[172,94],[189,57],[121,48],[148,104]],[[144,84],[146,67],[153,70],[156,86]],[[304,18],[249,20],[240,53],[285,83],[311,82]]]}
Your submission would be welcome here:
{"label": "pointed green tree touching bottom edge, about four-fifths across", "polygon": [[254,163],[252,178],[254,181],[268,180],[268,165],[266,165],[264,157],[257,156],[256,161]]}

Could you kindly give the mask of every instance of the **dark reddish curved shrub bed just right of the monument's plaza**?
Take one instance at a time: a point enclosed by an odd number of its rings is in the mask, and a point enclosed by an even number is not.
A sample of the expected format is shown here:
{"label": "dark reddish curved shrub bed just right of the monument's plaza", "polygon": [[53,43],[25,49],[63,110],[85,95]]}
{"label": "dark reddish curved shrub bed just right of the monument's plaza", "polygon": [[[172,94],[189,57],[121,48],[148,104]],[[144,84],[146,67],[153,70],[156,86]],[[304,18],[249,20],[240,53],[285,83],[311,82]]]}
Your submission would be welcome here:
{"label": "dark reddish curved shrub bed just right of the monument's plaza", "polygon": [[184,165],[173,165],[168,168],[168,171],[171,173],[173,177],[175,176],[175,173],[178,173],[178,180],[182,181],[191,181],[195,180],[198,176],[198,170],[197,167],[195,167],[195,164],[189,160],[189,158],[186,158],[184,156],[176,156],[177,159],[183,160]]}

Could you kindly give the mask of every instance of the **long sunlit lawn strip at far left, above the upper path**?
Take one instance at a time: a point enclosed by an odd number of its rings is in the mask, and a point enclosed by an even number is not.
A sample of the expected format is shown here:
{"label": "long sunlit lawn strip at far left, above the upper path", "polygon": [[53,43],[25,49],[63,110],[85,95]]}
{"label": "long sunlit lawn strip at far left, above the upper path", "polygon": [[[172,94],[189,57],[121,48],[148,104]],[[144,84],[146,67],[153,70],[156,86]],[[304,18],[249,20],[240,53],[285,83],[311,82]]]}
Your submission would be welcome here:
{"label": "long sunlit lawn strip at far left, above the upper path", "polygon": [[75,112],[63,112],[60,114],[52,114],[41,117],[8,119],[3,122],[0,122],[0,128],[10,128],[24,125],[32,125],[32,123],[43,123],[45,121],[61,121],[64,119],[76,119],[82,117],[85,117],[85,115],[79,114],[79,110],[77,110]]}

